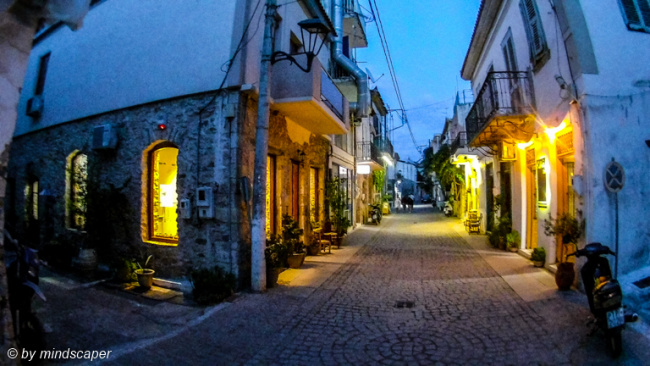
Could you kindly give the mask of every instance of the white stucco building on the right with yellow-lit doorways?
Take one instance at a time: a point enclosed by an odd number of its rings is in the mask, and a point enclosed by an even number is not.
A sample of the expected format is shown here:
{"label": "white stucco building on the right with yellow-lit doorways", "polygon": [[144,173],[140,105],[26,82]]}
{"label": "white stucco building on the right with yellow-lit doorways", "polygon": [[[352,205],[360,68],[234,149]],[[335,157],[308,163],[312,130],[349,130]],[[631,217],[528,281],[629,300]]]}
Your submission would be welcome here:
{"label": "white stucco building on the right with yellow-lit doorways", "polygon": [[[461,72],[476,100],[467,117],[469,145],[493,153],[481,169],[494,172],[494,193],[506,197],[521,248],[546,248],[547,266],[572,249],[544,235],[544,220],[562,213],[584,220],[579,246],[601,242],[617,251],[619,275],[650,265],[643,219],[650,214],[647,6],[640,0],[481,3]],[[613,159],[626,177],[617,197],[618,248],[616,196],[604,182]]]}

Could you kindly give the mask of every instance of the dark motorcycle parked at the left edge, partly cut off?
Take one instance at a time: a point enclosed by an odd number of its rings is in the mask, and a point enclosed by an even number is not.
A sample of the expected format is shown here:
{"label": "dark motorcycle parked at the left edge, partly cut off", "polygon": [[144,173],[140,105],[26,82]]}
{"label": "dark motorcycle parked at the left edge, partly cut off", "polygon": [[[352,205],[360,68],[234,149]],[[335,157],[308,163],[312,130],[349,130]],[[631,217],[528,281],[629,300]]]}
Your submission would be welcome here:
{"label": "dark motorcycle parked at the left edge, partly cut off", "polygon": [[20,348],[28,350],[45,349],[43,325],[32,310],[34,294],[43,301],[46,300],[38,287],[40,267],[38,250],[19,243],[7,230],[4,234],[9,307],[16,342]]}

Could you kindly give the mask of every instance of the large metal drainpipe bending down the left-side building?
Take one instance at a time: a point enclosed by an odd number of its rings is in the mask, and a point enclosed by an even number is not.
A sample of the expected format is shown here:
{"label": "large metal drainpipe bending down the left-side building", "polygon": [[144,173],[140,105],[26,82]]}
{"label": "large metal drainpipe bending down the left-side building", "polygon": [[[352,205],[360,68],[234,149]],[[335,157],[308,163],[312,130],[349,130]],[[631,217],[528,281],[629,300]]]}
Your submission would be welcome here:
{"label": "large metal drainpipe bending down the left-side building", "polygon": [[343,0],[334,0],[334,47],[332,47],[332,58],[346,71],[352,74],[357,81],[357,102],[350,103],[350,109],[354,111],[357,118],[368,117],[370,114],[370,88],[368,87],[368,75],[361,71],[357,64],[343,54]]}

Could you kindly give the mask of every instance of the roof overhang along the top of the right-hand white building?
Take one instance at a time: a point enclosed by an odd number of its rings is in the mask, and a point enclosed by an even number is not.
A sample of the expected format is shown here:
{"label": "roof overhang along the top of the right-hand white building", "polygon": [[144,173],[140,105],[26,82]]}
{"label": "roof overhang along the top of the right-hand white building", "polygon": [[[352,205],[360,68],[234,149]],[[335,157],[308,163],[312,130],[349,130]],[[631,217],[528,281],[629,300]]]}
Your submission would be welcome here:
{"label": "roof overhang along the top of the right-hand white building", "polygon": [[483,53],[483,48],[490,35],[490,30],[497,19],[502,3],[503,0],[481,0],[472,40],[469,44],[467,55],[465,55],[463,68],[460,71],[460,76],[464,80],[471,80],[474,71],[476,71],[476,66]]}

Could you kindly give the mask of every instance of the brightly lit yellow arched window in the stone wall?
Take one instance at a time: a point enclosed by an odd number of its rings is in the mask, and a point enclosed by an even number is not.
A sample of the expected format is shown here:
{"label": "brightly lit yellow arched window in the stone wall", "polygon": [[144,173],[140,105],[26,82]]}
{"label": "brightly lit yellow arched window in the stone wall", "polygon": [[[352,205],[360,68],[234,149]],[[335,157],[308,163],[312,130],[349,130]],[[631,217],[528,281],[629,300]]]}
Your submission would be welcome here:
{"label": "brightly lit yellow arched window in the stone wall", "polygon": [[170,142],[156,145],[148,156],[148,239],[178,242],[176,176],[178,148]]}

